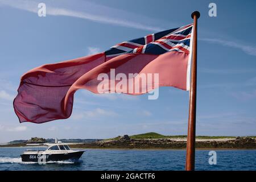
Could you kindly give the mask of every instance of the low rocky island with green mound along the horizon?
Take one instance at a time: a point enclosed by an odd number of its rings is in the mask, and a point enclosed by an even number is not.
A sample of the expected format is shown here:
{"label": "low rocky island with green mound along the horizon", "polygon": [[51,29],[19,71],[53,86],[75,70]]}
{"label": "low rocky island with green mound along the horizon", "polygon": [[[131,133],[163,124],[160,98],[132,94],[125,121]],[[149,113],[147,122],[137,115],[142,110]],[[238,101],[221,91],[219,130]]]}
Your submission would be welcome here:
{"label": "low rocky island with green mound along the horizon", "polygon": [[[185,149],[187,136],[162,135],[144,133],[138,135],[123,135],[110,139],[60,139],[69,143],[72,148],[134,148],[134,149]],[[0,147],[24,147],[28,143],[53,143],[54,139],[31,138],[30,140],[15,140]],[[197,136],[197,149],[256,149],[256,137],[224,137]]]}

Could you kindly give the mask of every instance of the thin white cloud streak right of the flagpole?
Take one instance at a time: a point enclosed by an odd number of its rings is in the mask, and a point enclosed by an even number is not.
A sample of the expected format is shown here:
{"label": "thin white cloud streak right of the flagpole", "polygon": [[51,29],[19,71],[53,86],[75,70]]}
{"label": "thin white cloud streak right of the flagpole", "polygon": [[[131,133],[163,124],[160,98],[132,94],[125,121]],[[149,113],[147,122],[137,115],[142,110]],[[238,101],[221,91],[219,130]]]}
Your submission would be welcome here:
{"label": "thin white cloud streak right of the flagpole", "polygon": [[241,49],[243,52],[245,52],[247,55],[256,56],[256,47],[254,46],[243,45],[243,44],[239,44],[229,40],[222,40],[222,39],[201,38],[199,40],[203,40],[210,43],[221,44],[222,46],[238,48],[238,49]]}

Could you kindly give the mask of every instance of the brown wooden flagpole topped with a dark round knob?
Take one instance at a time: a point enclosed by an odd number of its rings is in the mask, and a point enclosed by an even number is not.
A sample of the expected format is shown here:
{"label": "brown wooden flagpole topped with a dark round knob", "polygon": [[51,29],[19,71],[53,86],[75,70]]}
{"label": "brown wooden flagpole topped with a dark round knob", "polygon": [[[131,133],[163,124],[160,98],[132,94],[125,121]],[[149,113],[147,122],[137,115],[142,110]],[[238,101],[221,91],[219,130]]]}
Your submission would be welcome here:
{"label": "brown wooden flagpole topped with a dark round knob", "polygon": [[189,92],[189,115],[188,115],[188,137],[187,137],[187,156],[186,171],[195,170],[195,145],[196,145],[196,74],[197,74],[197,19],[200,17],[199,11],[191,14],[193,24],[193,43],[192,43],[192,69],[191,85]]}

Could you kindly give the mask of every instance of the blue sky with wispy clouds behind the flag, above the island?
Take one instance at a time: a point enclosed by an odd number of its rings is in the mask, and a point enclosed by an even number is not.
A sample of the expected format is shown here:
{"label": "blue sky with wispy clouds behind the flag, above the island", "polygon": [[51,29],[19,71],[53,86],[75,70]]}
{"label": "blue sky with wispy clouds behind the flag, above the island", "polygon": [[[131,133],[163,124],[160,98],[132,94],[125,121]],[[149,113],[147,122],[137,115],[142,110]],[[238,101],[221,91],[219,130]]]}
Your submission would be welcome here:
{"label": "blue sky with wispy clouds behind the flag, above the island", "polygon": [[[46,3],[39,17],[38,3]],[[217,5],[217,17],[208,5]],[[192,23],[199,10],[197,135],[256,135],[255,1],[0,0],[0,142],[30,137],[110,138],[155,131],[185,135],[188,92],[147,95],[79,90],[72,117],[19,123],[20,76],[42,64],[105,51],[116,43]]]}

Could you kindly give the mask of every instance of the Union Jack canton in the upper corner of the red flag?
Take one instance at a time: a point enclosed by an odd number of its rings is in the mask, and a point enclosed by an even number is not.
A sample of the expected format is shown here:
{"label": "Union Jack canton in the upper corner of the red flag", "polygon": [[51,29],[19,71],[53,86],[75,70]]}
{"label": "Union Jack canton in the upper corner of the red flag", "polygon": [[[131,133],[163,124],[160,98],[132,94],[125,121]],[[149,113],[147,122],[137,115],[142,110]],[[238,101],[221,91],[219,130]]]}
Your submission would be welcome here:
{"label": "Union Jack canton in the upper corner of the red flag", "polygon": [[125,53],[161,55],[168,51],[189,53],[193,24],[122,42],[105,51],[108,58]]}

